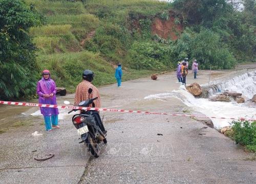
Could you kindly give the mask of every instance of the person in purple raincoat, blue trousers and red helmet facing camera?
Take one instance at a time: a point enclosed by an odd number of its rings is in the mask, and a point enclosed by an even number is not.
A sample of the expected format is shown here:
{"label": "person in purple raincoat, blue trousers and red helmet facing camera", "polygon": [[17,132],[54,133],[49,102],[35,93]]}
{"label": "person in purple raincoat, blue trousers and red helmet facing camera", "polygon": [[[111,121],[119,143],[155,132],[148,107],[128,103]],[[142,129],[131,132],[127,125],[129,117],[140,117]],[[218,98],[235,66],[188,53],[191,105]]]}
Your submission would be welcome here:
{"label": "person in purple raincoat, blue trousers and red helmet facing camera", "polygon": [[[48,70],[42,71],[42,79],[37,82],[37,94],[39,96],[40,104],[57,105],[56,101],[56,85],[50,77]],[[41,114],[44,116],[46,130],[51,131],[53,128],[60,128],[58,126],[58,108],[40,107]]]}

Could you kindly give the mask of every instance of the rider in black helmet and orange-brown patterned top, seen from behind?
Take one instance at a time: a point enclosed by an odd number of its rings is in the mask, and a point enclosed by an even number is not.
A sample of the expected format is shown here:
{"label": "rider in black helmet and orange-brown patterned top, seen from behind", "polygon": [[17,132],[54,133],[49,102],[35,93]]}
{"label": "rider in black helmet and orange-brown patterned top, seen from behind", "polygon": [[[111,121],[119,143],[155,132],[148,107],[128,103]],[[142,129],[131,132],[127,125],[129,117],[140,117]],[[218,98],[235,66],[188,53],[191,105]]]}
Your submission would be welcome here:
{"label": "rider in black helmet and orange-brown patterned top, seen from behind", "polygon": [[[75,99],[74,103],[75,106],[81,101],[92,99],[98,97],[98,99],[94,100],[95,107],[100,108],[100,95],[99,90],[95,87],[91,82],[93,81],[94,73],[90,70],[85,70],[82,73],[83,81],[80,82],[76,87]],[[92,88],[92,93],[89,94],[88,90]],[[92,107],[92,105],[91,105]]]}

